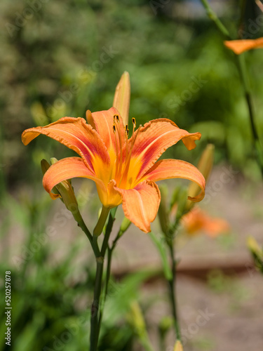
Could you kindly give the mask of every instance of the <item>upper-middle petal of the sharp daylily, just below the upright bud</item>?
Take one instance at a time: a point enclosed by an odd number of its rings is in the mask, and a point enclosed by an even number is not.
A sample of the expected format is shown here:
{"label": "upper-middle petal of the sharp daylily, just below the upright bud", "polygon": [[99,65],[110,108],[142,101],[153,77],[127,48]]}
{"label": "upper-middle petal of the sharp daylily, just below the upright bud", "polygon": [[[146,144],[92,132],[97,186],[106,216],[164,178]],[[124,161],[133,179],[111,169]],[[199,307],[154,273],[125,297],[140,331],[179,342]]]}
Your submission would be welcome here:
{"label": "upper-middle petal of the sharp daylily, just below the upright bud", "polygon": [[[89,110],[86,112],[86,119],[88,123],[93,126],[93,128],[100,134],[100,138],[104,141],[105,146],[109,152],[111,159],[115,158],[116,155],[116,135],[113,131],[114,124],[114,115],[119,116],[119,127],[121,130],[120,138],[122,145],[125,145],[125,127],[123,125],[123,120],[119,111],[115,107],[110,108],[109,110],[93,112]],[[117,139],[119,141],[119,138]],[[120,150],[119,143],[117,145],[118,150]]]}

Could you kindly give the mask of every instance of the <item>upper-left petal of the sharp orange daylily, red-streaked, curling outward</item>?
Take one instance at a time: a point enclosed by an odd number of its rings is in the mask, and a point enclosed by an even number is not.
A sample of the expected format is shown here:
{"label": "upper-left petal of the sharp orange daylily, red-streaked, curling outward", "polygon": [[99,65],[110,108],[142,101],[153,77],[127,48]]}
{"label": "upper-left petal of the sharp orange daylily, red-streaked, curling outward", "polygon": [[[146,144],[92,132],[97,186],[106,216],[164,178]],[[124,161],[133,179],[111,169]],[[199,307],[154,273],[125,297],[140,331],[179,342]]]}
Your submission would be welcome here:
{"label": "upper-left petal of the sharp orange daylily, red-streaked, curling outward", "polygon": [[109,154],[100,135],[86,124],[83,118],[63,117],[44,127],[29,128],[22,133],[22,142],[27,145],[39,134],[47,135],[79,154],[90,171],[101,176],[100,169],[109,166]]}

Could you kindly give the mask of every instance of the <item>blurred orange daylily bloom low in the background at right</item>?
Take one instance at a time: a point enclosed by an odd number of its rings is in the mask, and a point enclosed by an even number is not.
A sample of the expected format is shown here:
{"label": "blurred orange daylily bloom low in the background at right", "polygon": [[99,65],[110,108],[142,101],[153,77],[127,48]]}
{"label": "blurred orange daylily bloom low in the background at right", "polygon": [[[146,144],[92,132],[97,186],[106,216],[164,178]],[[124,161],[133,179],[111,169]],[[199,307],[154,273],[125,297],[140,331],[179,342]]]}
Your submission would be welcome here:
{"label": "blurred orange daylily bloom low in the background at right", "polygon": [[182,225],[190,235],[203,230],[209,237],[217,237],[229,231],[229,223],[226,220],[210,217],[198,207],[194,207],[182,217]]}

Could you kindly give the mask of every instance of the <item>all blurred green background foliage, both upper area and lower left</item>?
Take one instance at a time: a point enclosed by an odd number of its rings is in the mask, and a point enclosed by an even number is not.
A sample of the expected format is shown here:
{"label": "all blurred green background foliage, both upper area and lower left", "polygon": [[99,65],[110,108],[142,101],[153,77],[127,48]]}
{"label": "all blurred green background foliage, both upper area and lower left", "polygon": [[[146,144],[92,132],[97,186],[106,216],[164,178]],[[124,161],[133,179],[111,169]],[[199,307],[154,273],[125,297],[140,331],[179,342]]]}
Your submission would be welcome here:
{"label": "all blurred green background foliage, both upper area and lower left", "polygon": [[[224,48],[222,37],[205,15],[188,20],[177,17],[173,10],[178,2],[169,1],[155,12],[146,0],[1,0],[0,229],[5,249],[0,274],[2,279],[12,265],[15,351],[58,350],[60,343],[60,350],[84,350],[94,283],[93,267],[88,263],[80,274],[84,278],[73,279],[77,240],[67,258],[52,269],[49,258],[55,249],[48,244],[32,259],[17,260],[14,267],[8,256],[5,235],[14,222],[25,232],[25,246],[46,226],[50,199],[41,189],[41,159],[74,154],[44,136],[23,146],[20,134],[25,128],[64,116],[85,117],[87,108],[108,109],[126,70],[131,80],[130,115],[137,124],[168,117],[187,131],[202,133],[193,152],[180,143],[170,154],[196,164],[205,145],[213,143],[216,162],[229,161],[246,176],[257,175],[234,54]],[[236,8],[229,11],[227,20],[234,31]],[[254,37],[260,36],[261,27]],[[263,51],[245,53],[245,59],[262,135]],[[29,190],[22,201],[16,192],[19,188]],[[100,350],[131,350],[135,332],[123,315],[128,314],[138,286],[147,277],[142,273],[120,284],[112,282]],[[213,277],[217,291],[224,285],[220,279]],[[0,290],[4,296],[2,282]],[[76,303],[82,299],[85,310]],[[2,315],[1,335],[4,322]],[[0,350],[7,350],[3,339]]]}

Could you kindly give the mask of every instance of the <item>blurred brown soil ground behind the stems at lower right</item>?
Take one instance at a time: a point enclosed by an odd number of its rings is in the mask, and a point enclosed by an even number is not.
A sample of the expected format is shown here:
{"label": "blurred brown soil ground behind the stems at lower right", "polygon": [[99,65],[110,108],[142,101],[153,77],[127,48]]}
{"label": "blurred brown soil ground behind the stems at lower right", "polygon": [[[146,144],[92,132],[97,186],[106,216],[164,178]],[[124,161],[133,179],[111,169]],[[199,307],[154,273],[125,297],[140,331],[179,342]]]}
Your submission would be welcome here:
{"label": "blurred brown soil ground behind the stems at lower right", "polygon": [[[168,185],[173,186],[173,182],[175,180],[169,180]],[[243,180],[229,166],[217,166],[207,189],[207,198],[201,207],[212,216],[227,220],[231,232],[216,239],[200,234],[177,242],[180,264],[176,289],[184,351],[261,351],[263,276],[253,268],[246,238],[252,235],[263,244],[263,188]],[[93,192],[95,194],[95,190]],[[60,211],[59,201],[55,208]],[[76,239],[72,237],[74,226],[73,220],[69,220],[53,237],[60,246],[56,261],[70,241]],[[158,223],[154,223],[152,229],[158,233]],[[13,253],[18,253],[18,230],[12,230],[8,240]],[[81,240],[84,242],[86,238]],[[86,253],[83,252],[76,266],[84,260]],[[149,236],[132,225],[116,248],[113,271],[118,276],[140,267],[161,267],[161,261]],[[156,343],[156,324],[170,314],[164,297],[166,283],[157,277],[143,287],[142,293],[146,300],[149,296],[160,296],[159,302],[147,312],[151,339]],[[208,314],[200,317],[205,312]],[[171,332],[165,351],[173,351],[174,342],[175,335]],[[138,350],[141,350],[139,345]]]}

